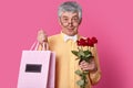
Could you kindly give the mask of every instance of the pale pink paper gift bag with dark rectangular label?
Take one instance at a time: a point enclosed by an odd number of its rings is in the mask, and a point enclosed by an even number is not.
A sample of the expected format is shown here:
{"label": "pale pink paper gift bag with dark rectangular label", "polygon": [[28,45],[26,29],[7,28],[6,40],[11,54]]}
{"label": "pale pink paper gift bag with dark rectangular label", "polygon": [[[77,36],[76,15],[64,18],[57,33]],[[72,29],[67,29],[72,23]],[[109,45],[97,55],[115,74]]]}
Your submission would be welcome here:
{"label": "pale pink paper gift bag with dark rectangular label", "polygon": [[18,88],[54,88],[55,54],[50,51],[23,51]]}

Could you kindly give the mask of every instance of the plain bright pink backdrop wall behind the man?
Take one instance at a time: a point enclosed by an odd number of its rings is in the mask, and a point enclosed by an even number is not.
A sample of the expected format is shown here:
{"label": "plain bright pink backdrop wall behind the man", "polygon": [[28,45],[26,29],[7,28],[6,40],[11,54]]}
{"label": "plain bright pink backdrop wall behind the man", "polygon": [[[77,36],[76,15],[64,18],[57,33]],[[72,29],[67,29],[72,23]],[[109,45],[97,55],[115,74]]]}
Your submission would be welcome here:
{"label": "plain bright pink backdrop wall behind the man", "polygon": [[[60,32],[57,10],[66,0],[0,0],[0,88],[16,88],[21,53],[42,28]],[[79,28],[96,36],[102,79],[94,88],[133,88],[132,0],[75,0],[83,8]]]}

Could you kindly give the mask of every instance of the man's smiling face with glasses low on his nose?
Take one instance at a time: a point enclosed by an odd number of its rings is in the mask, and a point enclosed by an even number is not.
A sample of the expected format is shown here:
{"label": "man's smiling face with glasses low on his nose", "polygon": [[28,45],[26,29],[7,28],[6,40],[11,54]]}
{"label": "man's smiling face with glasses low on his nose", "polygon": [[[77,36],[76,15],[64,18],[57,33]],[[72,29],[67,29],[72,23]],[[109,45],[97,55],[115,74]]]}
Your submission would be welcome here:
{"label": "man's smiling face with glasses low on his nose", "polygon": [[80,19],[78,12],[63,12],[60,16],[62,33],[73,36],[78,33]]}

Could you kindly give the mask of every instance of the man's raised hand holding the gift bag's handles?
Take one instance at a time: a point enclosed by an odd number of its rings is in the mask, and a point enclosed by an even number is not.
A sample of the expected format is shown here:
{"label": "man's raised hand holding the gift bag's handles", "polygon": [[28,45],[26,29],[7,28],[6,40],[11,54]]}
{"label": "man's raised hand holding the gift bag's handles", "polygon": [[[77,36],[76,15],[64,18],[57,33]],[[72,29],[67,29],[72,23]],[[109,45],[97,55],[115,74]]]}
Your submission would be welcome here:
{"label": "man's raised hand holding the gift bag's handles", "polygon": [[47,37],[47,34],[45,34],[45,32],[43,31],[43,30],[40,30],[39,32],[38,32],[38,42],[39,43],[43,43],[43,42],[48,42],[48,37]]}

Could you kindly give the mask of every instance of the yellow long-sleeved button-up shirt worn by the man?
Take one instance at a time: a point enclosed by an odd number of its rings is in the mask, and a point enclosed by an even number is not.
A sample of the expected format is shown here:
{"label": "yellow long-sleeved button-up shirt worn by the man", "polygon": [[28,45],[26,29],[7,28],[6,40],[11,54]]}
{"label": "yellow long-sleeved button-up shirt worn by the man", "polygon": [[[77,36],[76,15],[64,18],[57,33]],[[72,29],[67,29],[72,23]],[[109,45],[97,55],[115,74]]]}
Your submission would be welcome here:
{"label": "yellow long-sleeved button-up shirt worn by the man", "polygon": [[[79,80],[79,76],[74,74],[79,67],[79,61],[75,61],[76,56],[74,56],[71,51],[76,51],[76,42],[69,40],[64,42],[64,34],[57,34],[49,37],[49,46],[50,51],[55,52],[55,88],[80,88],[76,85]],[[78,35],[78,38],[81,38]],[[95,56],[95,62],[98,65],[98,70],[95,73],[89,74],[89,85],[86,88],[91,88],[91,85],[96,84],[101,78],[99,61],[95,53],[92,53]]]}

